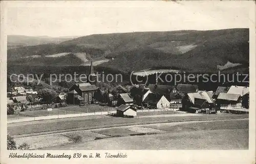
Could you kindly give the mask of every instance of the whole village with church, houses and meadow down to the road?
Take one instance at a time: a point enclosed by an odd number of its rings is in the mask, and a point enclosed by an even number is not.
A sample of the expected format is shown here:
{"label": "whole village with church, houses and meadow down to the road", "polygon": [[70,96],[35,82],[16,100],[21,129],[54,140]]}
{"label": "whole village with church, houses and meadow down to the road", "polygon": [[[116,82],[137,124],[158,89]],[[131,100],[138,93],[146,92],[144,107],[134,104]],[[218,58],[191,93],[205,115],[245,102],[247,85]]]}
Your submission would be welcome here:
{"label": "whole village with church, houses and meadow down to the road", "polygon": [[[93,83],[76,83],[69,91],[61,92],[48,104],[44,104],[44,98],[39,97],[37,91],[14,86],[13,91],[7,93],[7,114],[14,115],[11,118],[15,120],[20,116],[49,116],[77,112],[103,112],[111,116],[128,118],[137,116],[137,112],[143,110],[206,114],[249,112],[248,86],[219,86],[216,90],[205,91],[191,84],[134,85],[130,90],[118,85],[121,92],[114,97],[109,90],[101,90],[97,85],[92,63],[90,75]],[[26,111],[31,112],[23,114]]]}

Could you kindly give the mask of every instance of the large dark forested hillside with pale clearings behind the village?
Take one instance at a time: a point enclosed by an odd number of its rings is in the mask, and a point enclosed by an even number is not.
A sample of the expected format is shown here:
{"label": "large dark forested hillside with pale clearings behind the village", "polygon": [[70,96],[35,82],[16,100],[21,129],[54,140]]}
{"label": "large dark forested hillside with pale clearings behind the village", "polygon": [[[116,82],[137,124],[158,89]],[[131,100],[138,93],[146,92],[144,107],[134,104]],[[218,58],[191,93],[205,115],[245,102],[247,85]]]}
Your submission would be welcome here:
{"label": "large dark forested hillside with pale clearings behind the village", "polygon": [[[248,65],[248,41],[248,29],[95,34],[59,44],[11,49],[8,50],[8,59],[14,61],[33,55],[87,53],[87,59],[91,56],[109,59],[102,60],[101,67],[124,72],[151,67],[215,72],[218,71],[217,65],[223,66],[228,61]],[[56,62],[58,65],[59,62]],[[80,63],[73,63],[76,64]]]}

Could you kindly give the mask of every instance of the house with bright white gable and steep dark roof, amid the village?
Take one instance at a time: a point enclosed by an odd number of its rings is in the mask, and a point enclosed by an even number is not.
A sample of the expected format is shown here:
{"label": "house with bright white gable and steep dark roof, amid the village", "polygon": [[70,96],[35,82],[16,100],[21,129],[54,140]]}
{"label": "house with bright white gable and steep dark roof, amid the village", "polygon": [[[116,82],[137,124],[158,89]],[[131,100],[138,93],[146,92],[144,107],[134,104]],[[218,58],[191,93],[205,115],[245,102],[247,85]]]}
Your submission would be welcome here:
{"label": "house with bright white gable and steep dark roof, amid the village", "polygon": [[170,102],[163,96],[155,93],[148,93],[143,104],[153,108],[169,108]]}

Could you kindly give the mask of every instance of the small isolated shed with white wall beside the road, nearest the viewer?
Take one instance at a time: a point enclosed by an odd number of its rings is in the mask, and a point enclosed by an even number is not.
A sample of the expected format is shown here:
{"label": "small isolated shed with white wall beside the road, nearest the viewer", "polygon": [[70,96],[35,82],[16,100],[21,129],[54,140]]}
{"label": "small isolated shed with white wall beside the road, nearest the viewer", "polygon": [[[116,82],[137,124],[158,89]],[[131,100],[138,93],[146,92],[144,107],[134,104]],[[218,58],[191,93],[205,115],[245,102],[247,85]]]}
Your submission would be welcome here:
{"label": "small isolated shed with white wall beside the road, nearest the viewer", "polygon": [[130,105],[120,105],[116,108],[116,114],[117,116],[136,116],[137,115],[137,109]]}

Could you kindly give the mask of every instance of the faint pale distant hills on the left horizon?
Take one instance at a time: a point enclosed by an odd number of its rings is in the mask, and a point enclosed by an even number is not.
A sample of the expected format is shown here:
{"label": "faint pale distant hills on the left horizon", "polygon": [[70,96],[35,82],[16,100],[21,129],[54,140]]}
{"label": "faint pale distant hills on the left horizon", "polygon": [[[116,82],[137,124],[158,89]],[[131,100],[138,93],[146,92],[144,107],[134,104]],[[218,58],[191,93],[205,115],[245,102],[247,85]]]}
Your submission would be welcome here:
{"label": "faint pale distant hills on the left horizon", "polygon": [[49,37],[49,36],[23,36],[8,35],[7,48],[14,49],[21,46],[39,45],[39,44],[56,44],[75,37]]}

